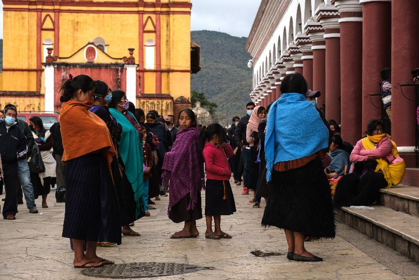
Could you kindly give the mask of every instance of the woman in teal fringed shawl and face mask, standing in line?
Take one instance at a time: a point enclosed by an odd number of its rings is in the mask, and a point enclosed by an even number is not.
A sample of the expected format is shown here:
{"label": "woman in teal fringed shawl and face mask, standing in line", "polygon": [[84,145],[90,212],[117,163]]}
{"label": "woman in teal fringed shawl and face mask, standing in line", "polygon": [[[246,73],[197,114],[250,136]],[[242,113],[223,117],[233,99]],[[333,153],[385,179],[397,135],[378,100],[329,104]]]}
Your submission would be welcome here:
{"label": "woman in teal fringed shawl and face mask, standing in line", "polygon": [[126,212],[125,219],[122,218],[122,234],[139,236],[140,234],[133,231],[129,224],[145,215],[143,202],[143,149],[137,129],[125,117],[125,114],[130,114],[127,111],[128,100],[125,92],[116,89],[111,92],[111,95],[109,111],[122,126],[118,150],[123,165],[121,185]]}

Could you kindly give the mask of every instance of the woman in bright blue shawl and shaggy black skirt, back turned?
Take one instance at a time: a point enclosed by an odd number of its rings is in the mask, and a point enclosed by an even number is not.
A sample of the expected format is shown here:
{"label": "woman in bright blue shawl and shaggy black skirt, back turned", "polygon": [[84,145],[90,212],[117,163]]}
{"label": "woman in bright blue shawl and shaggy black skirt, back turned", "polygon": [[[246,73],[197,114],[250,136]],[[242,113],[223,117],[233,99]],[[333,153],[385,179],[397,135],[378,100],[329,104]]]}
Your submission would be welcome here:
{"label": "woman in bright blue shawl and shaggy black skirt, back turned", "polygon": [[285,230],[289,260],[322,261],[305,250],[304,237],[335,237],[332,197],[321,161],[329,146],[329,132],[305,99],[303,75],[287,75],[280,90],[281,97],[267,115],[265,157],[270,189],[262,225]]}

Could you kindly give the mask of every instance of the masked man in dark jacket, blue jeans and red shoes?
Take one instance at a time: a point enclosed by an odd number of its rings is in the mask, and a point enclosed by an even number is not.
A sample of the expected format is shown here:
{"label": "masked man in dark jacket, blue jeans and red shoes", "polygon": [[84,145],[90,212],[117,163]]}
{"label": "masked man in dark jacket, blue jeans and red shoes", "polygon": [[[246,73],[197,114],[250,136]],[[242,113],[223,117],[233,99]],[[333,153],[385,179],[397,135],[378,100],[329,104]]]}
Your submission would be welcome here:
{"label": "masked man in dark jacket, blue jeans and red shoes", "polygon": [[249,122],[250,115],[252,115],[255,103],[249,102],[246,104],[246,115],[242,117],[236,126],[234,140],[239,149],[241,149],[241,160],[243,161],[243,192],[242,195],[249,194],[249,180],[250,180],[250,147],[246,141],[246,129]]}

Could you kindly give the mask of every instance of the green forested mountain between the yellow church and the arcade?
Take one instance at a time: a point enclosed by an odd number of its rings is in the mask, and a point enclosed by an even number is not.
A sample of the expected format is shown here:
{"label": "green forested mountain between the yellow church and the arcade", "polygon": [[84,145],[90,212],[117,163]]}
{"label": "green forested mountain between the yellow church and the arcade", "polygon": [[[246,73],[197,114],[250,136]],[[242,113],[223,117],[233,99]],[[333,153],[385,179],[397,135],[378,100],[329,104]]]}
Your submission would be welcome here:
{"label": "green forested mountain between the yellow church and the arcade", "polygon": [[246,103],[251,101],[252,69],[247,62],[252,57],[244,49],[247,38],[207,30],[192,31],[190,37],[201,46],[201,71],[190,75],[190,90],[204,92],[218,105],[218,122],[230,125],[234,116],[246,114]]}

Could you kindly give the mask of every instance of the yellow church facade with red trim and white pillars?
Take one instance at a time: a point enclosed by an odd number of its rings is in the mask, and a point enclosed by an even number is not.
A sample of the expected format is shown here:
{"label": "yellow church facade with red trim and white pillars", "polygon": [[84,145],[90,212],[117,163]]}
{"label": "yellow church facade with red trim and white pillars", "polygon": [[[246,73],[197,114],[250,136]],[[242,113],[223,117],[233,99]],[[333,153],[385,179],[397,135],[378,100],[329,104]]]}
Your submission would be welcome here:
{"label": "yellow church facade with red trim and white pillars", "polygon": [[69,74],[120,88],[145,112],[173,114],[177,100],[188,105],[191,69],[199,69],[190,0],[2,2],[1,108],[59,111]]}

